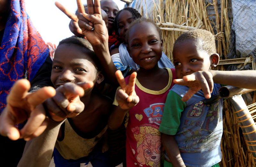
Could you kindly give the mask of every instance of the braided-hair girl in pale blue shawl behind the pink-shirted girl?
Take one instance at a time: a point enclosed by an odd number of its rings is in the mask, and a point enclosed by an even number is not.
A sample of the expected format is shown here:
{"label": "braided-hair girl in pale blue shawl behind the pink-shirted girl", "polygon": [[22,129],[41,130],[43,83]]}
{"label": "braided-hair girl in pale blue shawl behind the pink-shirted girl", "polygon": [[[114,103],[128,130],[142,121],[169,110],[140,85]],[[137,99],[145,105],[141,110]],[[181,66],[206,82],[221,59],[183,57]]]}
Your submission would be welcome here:
{"label": "braided-hair girl in pale blue shawl behind the pink-shirted girl", "polygon": [[[140,66],[133,62],[130,57],[125,43],[125,34],[129,25],[138,18],[142,18],[138,11],[133,8],[126,7],[117,13],[115,19],[115,33],[122,43],[118,48],[113,49],[110,52],[110,55],[116,68],[121,70],[124,76],[128,76],[132,71],[140,69]],[[158,66],[160,68],[174,68],[170,59],[163,52],[162,57],[158,62]]]}

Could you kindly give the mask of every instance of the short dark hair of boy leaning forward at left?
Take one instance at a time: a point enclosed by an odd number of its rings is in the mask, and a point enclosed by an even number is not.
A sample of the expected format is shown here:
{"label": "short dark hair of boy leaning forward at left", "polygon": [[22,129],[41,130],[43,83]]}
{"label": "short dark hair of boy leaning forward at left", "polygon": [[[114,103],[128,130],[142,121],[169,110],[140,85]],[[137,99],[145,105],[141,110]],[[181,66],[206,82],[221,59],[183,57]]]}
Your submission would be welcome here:
{"label": "short dark hair of boy leaning forward at left", "polygon": [[61,40],[59,42],[59,45],[61,44],[67,44],[67,45],[74,44],[74,45],[81,46],[86,52],[86,54],[92,59],[93,61],[92,63],[95,65],[96,70],[99,71],[102,69],[100,61],[96,56],[96,54],[94,53],[92,45],[88,40],[84,39],[83,37],[77,37],[74,35],[64,40]]}

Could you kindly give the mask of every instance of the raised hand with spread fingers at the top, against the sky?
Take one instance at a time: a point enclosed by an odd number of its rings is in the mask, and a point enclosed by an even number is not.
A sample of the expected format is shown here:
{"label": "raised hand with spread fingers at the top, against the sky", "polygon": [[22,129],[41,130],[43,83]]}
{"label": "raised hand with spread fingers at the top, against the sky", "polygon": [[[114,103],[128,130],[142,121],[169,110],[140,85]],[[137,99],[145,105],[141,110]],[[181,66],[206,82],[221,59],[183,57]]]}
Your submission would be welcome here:
{"label": "raised hand with spread fingers at the top, against the sky", "polygon": [[82,33],[92,46],[108,45],[108,30],[101,17],[100,0],[94,0],[94,4],[93,0],[87,0],[88,14],[85,13],[81,0],[77,0],[79,12],[77,17],[60,3],[56,2],[55,5],[74,22],[78,23],[81,31],[77,29],[77,32]]}

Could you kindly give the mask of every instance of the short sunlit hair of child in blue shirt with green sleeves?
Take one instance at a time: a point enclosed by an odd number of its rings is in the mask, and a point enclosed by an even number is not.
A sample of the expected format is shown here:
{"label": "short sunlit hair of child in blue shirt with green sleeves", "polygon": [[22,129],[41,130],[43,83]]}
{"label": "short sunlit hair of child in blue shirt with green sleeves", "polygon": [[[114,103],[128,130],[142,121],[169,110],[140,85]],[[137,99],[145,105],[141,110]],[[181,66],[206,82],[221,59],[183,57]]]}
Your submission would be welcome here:
{"label": "short sunlit hair of child in blue shirt with green sleeves", "polygon": [[195,29],[181,34],[174,42],[174,46],[185,40],[195,40],[197,50],[206,51],[209,55],[216,53],[215,36],[203,29]]}

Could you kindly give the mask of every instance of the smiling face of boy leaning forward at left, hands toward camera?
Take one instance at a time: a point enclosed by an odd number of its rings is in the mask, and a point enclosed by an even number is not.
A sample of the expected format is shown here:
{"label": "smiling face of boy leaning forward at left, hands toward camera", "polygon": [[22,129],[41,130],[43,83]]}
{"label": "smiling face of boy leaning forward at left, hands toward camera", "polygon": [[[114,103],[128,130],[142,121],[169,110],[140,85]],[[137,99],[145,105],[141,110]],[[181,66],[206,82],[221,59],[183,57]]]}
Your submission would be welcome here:
{"label": "smiling face of boy leaning forward at left, hands toward camera", "polygon": [[[92,81],[95,83],[99,73],[91,57],[82,46],[60,44],[52,62],[51,81],[55,88],[65,83]],[[88,89],[86,92],[92,90]]]}

